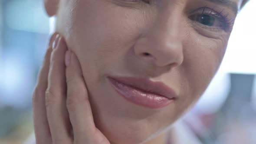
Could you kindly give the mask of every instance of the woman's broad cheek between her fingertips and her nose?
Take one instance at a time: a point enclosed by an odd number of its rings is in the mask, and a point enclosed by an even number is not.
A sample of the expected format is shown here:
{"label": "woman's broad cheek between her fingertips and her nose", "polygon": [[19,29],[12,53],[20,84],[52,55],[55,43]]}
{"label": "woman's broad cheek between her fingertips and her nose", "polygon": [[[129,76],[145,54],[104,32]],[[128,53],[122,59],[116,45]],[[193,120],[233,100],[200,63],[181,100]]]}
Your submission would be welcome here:
{"label": "woman's broad cheek between her fingertips and her nose", "polygon": [[[75,7],[74,10],[67,7],[67,16],[62,16],[66,17],[63,21],[68,21],[64,25],[67,43],[78,56],[83,72],[95,77],[97,72],[104,72],[108,64],[121,63],[140,36],[145,21],[139,11],[104,0],[81,0]],[[88,68],[91,70],[86,70]]]}

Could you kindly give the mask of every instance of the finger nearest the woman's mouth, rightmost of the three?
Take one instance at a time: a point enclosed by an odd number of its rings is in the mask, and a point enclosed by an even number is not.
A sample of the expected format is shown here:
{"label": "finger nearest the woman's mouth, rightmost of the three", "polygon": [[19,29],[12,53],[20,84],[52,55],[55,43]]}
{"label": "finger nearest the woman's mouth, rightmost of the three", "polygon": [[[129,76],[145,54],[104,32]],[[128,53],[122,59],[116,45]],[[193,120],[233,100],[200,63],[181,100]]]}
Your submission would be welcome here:
{"label": "finger nearest the woman's mouth, rightmost of the three", "polygon": [[[65,59],[67,82],[67,108],[73,127],[75,141],[88,142],[95,131],[92,109],[79,61],[71,51]],[[78,142],[79,143],[79,142]]]}

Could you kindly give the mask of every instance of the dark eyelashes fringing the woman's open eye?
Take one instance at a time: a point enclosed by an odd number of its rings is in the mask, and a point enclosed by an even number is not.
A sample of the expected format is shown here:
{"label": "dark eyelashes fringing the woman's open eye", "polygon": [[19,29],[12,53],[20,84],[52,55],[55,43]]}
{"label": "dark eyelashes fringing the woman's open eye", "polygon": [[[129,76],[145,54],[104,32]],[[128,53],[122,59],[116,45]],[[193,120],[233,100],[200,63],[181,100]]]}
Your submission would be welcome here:
{"label": "dark eyelashes fringing the woman's open eye", "polygon": [[[220,12],[217,12],[217,10],[214,10],[214,8],[200,7],[197,10],[192,11],[191,13],[213,16],[214,18],[219,20],[219,22],[221,23],[220,28],[223,29],[223,30],[230,30],[230,28],[233,26],[233,23],[234,23],[234,19],[232,19],[232,18],[229,19],[228,18],[228,16],[229,16],[228,13],[224,14],[224,10],[222,10]],[[194,16],[194,14],[190,15],[189,18]],[[206,26],[206,25],[204,25],[204,26]],[[206,26],[206,27],[212,28],[213,26]],[[215,29],[216,29],[216,27],[215,27]]]}

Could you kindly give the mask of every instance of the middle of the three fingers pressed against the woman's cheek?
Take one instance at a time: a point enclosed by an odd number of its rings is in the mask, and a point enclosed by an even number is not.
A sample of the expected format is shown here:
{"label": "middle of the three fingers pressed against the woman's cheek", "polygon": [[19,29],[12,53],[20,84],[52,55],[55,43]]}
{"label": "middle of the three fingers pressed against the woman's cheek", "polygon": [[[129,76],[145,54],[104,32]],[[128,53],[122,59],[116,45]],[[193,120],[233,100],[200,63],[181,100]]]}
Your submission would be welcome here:
{"label": "middle of the three fingers pressed against the woman's cheek", "polygon": [[65,53],[66,43],[62,36],[56,39],[56,46],[51,55],[46,90],[46,111],[52,134],[53,144],[71,144],[69,133],[71,124],[66,108]]}

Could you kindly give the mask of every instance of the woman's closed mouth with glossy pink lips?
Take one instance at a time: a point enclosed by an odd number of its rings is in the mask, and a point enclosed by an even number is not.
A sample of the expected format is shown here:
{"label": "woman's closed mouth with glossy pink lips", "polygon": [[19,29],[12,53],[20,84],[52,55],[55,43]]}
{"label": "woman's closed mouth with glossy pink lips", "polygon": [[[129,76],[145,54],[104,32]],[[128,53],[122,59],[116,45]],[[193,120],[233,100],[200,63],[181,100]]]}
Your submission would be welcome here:
{"label": "woman's closed mouth with glossy pink lips", "polygon": [[108,77],[118,95],[146,108],[163,108],[177,99],[174,90],[162,82],[133,77]]}

